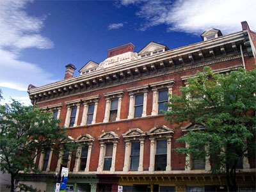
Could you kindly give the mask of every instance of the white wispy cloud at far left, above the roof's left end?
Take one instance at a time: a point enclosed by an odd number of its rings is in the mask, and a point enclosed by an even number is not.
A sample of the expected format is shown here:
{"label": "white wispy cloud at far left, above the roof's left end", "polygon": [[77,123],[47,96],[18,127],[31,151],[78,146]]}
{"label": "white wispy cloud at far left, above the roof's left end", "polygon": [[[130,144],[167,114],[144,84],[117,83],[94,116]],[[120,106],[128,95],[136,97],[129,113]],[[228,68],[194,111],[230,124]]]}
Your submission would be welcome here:
{"label": "white wispy cloud at far left, above the roof's left end", "polygon": [[32,17],[26,6],[33,1],[0,1],[0,86],[25,91],[29,83],[42,85],[54,81],[52,75],[35,63],[19,59],[26,48],[51,49],[53,43],[40,34],[45,16]]}

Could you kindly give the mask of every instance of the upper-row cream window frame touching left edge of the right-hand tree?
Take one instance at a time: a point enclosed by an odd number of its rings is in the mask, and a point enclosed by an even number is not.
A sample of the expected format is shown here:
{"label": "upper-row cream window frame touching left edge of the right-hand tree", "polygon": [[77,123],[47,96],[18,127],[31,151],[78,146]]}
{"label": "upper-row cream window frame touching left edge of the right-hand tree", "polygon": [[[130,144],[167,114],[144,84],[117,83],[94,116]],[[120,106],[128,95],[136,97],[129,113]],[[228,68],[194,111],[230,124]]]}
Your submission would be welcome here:
{"label": "upper-row cream window frame touching left edge of the right-hand tree", "polygon": [[173,84],[175,83],[174,79],[159,81],[155,83],[150,83],[150,87],[153,91],[153,100],[152,100],[152,113],[151,115],[160,115],[158,114],[158,93],[159,90],[168,89],[168,93],[172,95]]}

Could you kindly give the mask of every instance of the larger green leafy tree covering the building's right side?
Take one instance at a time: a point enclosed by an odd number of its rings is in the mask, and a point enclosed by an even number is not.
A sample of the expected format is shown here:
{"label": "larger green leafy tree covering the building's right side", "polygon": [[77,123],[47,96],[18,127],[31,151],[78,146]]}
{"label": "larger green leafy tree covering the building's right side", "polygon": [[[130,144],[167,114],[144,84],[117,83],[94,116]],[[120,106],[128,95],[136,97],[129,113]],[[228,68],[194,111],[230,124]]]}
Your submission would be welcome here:
{"label": "larger green leafy tree covering the building's right side", "polygon": [[224,173],[229,191],[237,191],[237,165],[248,149],[255,152],[256,70],[240,68],[225,76],[206,67],[188,84],[180,87],[181,96],[172,95],[166,119],[178,127],[190,122],[204,129],[188,131],[177,141],[189,147],[175,151],[195,159],[210,156],[211,173]]}

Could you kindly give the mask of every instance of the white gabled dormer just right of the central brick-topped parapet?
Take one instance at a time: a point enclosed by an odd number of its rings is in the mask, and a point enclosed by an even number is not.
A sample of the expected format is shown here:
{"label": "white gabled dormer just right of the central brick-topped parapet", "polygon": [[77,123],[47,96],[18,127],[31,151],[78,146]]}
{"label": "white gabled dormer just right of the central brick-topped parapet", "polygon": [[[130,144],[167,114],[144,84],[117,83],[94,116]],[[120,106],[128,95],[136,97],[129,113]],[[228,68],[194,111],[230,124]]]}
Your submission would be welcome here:
{"label": "white gabled dormer just right of the central brick-topped parapet", "polygon": [[141,58],[145,58],[148,56],[164,52],[166,50],[169,50],[166,45],[157,44],[156,42],[151,41],[145,47],[143,47],[143,49],[141,49],[140,52],[138,52],[138,55],[141,56]]}

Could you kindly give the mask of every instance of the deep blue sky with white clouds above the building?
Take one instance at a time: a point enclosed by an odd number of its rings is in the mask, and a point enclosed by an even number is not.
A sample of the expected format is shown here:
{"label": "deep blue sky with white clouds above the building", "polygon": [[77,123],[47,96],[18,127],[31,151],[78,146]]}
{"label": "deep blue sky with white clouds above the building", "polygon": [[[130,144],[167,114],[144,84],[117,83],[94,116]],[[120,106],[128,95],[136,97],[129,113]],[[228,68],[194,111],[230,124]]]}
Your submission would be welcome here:
{"label": "deep blue sky with white clouds above the building", "polygon": [[65,65],[100,63],[108,49],[151,40],[169,49],[202,41],[206,29],[223,35],[256,31],[254,0],[0,1],[0,89],[4,99],[30,103],[28,85],[61,81]]}

